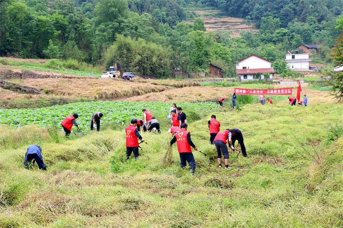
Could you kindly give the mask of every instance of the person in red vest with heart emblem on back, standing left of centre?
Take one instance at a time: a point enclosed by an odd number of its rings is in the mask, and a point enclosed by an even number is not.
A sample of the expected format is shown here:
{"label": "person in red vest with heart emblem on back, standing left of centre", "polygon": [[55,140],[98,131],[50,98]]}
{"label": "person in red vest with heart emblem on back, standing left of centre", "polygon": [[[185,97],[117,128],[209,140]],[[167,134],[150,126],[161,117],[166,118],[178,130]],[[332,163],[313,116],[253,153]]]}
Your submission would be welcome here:
{"label": "person in red vest with heart emblem on back, standing left of centre", "polygon": [[132,119],[131,124],[125,128],[125,135],[126,135],[126,159],[130,158],[131,153],[135,156],[135,159],[139,157],[139,150],[138,150],[138,139],[141,139],[143,142],[142,136],[139,134],[137,126],[137,119]]}

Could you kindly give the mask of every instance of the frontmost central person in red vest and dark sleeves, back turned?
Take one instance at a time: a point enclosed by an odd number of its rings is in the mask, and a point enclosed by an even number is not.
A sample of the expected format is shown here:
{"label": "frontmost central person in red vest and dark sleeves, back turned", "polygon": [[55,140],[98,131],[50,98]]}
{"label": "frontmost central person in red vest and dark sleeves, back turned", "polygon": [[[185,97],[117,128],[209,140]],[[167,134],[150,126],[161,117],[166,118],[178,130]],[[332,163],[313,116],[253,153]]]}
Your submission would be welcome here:
{"label": "frontmost central person in red vest and dark sleeves, back turned", "polygon": [[188,162],[190,171],[194,174],[196,170],[196,160],[194,160],[191,147],[195,150],[197,150],[197,148],[192,142],[191,133],[187,131],[187,127],[187,123],[181,124],[181,130],[172,138],[171,146],[175,142],[177,143],[177,150],[180,155],[180,167],[185,168]]}

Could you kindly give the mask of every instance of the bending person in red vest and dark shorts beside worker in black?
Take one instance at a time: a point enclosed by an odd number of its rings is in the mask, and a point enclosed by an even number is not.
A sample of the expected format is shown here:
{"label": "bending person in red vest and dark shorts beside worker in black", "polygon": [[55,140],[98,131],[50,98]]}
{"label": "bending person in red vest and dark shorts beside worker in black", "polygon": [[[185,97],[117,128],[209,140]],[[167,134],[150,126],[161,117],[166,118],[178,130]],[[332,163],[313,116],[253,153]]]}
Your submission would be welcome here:
{"label": "bending person in red vest and dark shorts beside worker in black", "polygon": [[232,146],[232,140],[231,140],[232,134],[230,132],[230,129],[226,129],[225,131],[218,132],[217,136],[214,139],[214,144],[216,145],[216,149],[218,152],[217,159],[219,163],[219,168],[222,168],[221,165],[221,154],[224,156],[225,161],[225,169],[230,168],[229,166],[229,151],[227,150],[227,139],[229,139],[229,145],[230,148],[233,150],[234,147]]}

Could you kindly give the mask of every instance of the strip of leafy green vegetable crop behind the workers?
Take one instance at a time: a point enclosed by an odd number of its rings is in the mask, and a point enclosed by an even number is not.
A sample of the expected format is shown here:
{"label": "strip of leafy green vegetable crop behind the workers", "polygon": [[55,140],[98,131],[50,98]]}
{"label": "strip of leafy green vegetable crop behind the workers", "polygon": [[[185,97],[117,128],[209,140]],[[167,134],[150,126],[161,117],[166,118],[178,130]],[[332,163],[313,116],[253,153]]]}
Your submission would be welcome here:
{"label": "strip of leafy green vegetable crop behind the workers", "polygon": [[[194,110],[218,108],[218,104],[211,102],[203,103],[178,103],[180,107],[189,107]],[[91,116],[94,112],[102,112],[102,123],[113,122],[123,124],[132,118],[143,118],[142,109],[156,113],[169,113],[172,103],[166,102],[128,102],[128,101],[96,101],[79,102],[67,105],[55,105],[41,109],[1,109],[0,124],[8,124],[14,127],[36,124],[49,126],[53,120],[57,123],[70,114],[77,113],[79,117],[76,122],[83,130],[88,129]],[[55,121],[55,122],[56,122]],[[60,127],[62,129],[62,127]]]}

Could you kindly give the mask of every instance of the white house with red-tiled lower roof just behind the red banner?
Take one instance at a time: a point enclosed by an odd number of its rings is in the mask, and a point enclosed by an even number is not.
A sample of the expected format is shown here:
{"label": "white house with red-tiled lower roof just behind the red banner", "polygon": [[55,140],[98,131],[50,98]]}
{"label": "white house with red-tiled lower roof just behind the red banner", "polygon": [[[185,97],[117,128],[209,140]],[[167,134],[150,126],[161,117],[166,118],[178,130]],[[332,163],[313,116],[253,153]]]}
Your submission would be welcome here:
{"label": "white house with red-tiled lower roof just behind the red banner", "polygon": [[[236,64],[236,72],[241,78],[241,81],[258,80],[256,73],[261,73],[261,79],[271,80],[273,78],[274,69],[271,68],[270,61],[250,55]],[[264,75],[268,72],[269,75]]]}

